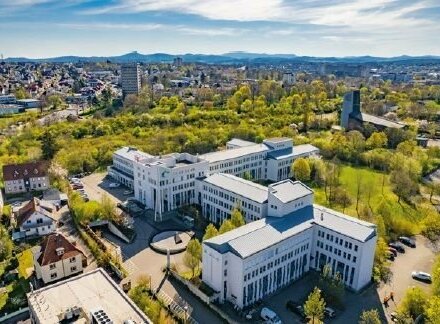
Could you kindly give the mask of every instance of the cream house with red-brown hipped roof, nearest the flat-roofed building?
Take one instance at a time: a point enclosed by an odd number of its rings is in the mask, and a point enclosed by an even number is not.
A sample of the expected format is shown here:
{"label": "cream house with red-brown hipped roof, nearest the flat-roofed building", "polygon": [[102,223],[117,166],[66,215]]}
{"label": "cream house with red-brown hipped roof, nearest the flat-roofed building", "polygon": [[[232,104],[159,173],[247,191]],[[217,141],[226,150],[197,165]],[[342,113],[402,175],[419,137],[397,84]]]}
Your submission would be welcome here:
{"label": "cream house with red-brown hipped roof, nearest the flat-roofed building", "polygon": [[33,249],[37,279],[45,284],[83,271],[84,253],[61,234],[51,234]]}

